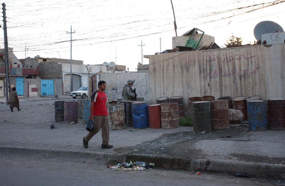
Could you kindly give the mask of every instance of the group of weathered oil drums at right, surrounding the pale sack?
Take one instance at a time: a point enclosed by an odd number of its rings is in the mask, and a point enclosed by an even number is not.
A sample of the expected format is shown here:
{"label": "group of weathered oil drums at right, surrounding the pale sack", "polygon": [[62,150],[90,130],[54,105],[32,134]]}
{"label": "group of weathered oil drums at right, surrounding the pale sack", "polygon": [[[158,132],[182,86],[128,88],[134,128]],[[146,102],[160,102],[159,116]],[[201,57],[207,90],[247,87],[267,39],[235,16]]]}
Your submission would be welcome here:
{"label": "group of weathered oil drums at right, surrounding the pale sack", "polygon": [[[238,96],[235,98],[226,96],[218,98],[218,100],[203,101],[200,98],[188,99],[194,130],[229,127],[229,115],[227,114],[229,108],[240,110],[243,113],[243,120],[248,121],[250,131],[285,130],[284,99],[261,100],[260,96]],[[221,102],[222,100],[224,102]],[[197,121],[198,126],[205,126],[195,127]]]}

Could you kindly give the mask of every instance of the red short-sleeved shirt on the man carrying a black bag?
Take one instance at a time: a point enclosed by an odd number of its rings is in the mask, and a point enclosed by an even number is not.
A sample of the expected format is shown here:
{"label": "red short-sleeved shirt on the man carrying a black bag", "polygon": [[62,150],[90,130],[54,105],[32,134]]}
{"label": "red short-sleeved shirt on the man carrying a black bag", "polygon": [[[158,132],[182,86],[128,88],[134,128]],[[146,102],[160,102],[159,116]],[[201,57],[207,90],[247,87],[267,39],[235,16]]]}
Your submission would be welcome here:
{"label": "red short-sleeved shirt on the man carrying a black bag", "polygon": [[106,102],[108,102],[105,92],[95,90],[90,96],[90,101],[94,101],[93,116],[108,115]]}

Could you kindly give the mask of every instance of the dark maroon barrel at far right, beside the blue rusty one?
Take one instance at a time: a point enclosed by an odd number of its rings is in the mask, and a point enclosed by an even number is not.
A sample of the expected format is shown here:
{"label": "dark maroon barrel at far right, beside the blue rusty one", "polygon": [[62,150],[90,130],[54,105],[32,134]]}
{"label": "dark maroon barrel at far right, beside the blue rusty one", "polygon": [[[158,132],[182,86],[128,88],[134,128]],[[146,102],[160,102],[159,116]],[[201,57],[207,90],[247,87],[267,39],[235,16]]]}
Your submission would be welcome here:
{"label": "dark maroon barrel at far right, beside the blue rusty one", "polygon": [[268,129],[285,130],[285,100],[267,100]]}

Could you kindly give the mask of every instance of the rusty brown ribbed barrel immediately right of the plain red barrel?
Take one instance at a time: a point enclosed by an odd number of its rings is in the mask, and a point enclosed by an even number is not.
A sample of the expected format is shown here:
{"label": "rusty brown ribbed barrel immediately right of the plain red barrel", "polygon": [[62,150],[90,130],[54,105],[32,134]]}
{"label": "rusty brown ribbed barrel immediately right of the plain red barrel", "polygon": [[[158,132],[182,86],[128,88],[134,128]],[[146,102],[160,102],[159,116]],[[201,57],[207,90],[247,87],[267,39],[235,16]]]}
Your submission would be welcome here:
{"label": "rusty brown ribbed barrel immediately right of the plain red barrel", "polygon": [[173,129],[179,127],[179,110],[177,103],[162,103],[161,108],[161,128]]}

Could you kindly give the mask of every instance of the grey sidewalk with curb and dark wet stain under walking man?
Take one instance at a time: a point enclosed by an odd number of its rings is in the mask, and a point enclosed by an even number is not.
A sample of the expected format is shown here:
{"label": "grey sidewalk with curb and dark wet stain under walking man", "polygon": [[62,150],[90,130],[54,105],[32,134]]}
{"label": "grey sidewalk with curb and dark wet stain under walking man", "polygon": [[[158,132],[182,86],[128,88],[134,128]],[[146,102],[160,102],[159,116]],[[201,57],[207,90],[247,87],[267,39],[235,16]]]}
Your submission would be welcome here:
{"label": "grey sidewalk with curb and dark wet stain under walking man", "polygon": [[[57,99],[72,99],[69,97]],[[22,110],[13,113],[9,112],[9,106],[0,104],[0,151],[93,157],[119,163],[144,161],[165,169],[244,172],[258,176],[285,173],[285,130],[252,132],[248,131],[247,122],[206,132],[193,131],[193,127],[127,127],[110,130],[112,149],[101,149],[101,132],[89,141],[86,149],[82,145],[82,138],[87,134],[82,119],[73,125],[55,123],[50,100],[57,99],[21,98]],[[33,102],[36,100],[46,104]],[[57,128],[51,129],[51,124]],[[221,138],[226,136],[231,138]]]}

